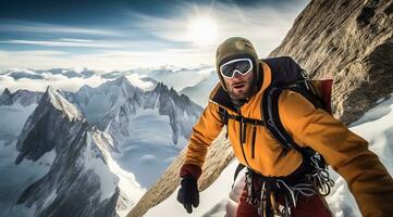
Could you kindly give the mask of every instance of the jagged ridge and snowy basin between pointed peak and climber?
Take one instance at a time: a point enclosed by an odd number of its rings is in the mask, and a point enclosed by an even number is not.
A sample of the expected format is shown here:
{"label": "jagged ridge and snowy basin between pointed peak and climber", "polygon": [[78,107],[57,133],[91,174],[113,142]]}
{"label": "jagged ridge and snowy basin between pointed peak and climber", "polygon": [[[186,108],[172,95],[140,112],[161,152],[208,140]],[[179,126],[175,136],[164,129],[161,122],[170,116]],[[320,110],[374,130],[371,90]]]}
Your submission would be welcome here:
{"label": "jagged ridge and snowy basin between pointed peak and climber", "polygon": [[134,92],[105,117],[106,131],[116,140],[119,164],[150,187],[187,143],[202,108],[163,84]]}

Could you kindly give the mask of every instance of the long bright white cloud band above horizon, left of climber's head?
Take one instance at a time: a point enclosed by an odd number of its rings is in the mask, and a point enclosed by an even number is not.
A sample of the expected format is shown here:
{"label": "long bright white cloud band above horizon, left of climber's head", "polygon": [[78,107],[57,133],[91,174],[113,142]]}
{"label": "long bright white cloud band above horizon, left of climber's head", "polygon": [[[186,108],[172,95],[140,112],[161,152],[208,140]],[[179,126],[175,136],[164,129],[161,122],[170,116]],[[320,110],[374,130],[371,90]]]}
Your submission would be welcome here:
{"label": "long bright white cloud band above horizon, left of climber's head", "polygon": [[[50,53],[53,55],[50,55]],[[88,67],[97,71],[126,71],[137,67],[159,67],[176,65],[191,67],[199,64],[213,63],[213,52],[199,52],[188,49],[171,49],[168,51],[100,51],[88,54],[62,55],[58,51],[1,51],[1,69],[35,68],[48,69],[53,67]]]}

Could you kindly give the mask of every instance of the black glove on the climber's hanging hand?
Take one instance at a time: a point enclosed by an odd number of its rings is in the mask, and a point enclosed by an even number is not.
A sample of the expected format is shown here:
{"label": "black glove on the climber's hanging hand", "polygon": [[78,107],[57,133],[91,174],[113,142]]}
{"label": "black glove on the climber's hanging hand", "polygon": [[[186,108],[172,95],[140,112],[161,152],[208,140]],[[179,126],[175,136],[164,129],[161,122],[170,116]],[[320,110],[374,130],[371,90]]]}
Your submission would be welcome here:
{"label": "black glove on the climber's hanging hand", "polygon": [[188,214],[199,205],[199,191],[196,178],[188,175],[182,179],[181,188],[177,192],[177,201],[183,204]]}

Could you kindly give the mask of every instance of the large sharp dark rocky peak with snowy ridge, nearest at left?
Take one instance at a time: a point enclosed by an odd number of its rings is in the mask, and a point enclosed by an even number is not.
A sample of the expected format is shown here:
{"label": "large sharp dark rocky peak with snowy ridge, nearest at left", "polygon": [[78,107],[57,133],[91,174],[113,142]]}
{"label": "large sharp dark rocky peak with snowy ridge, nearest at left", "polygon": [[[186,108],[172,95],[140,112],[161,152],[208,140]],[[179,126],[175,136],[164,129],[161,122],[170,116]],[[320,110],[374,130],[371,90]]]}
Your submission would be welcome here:
{"label": "large sharp dark rocky peak with snowy ridge, nearest at left", "polygon": [[17,141],[15,163],[54,155],[48,174],[30,183],[17,204],[34,216],[118,216],[145,189],[113,161],[112,138],[49,87]]}

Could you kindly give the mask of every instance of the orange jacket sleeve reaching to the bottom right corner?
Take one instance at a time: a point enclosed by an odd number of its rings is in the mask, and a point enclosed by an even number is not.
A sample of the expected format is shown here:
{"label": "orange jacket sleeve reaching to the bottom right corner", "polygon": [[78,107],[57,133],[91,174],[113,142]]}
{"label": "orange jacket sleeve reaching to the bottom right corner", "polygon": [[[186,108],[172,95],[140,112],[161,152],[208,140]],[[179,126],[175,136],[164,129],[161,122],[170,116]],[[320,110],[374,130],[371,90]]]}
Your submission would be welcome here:
{"label": "orange jacket sleeve reaching to the bottom right corner", "polygon": [[319,152],[347,182],[363,216],[393,216],[393,180],[368,142],[303,95],[284,91],[279,114],[296,140]]}

